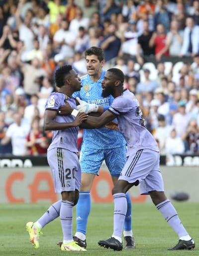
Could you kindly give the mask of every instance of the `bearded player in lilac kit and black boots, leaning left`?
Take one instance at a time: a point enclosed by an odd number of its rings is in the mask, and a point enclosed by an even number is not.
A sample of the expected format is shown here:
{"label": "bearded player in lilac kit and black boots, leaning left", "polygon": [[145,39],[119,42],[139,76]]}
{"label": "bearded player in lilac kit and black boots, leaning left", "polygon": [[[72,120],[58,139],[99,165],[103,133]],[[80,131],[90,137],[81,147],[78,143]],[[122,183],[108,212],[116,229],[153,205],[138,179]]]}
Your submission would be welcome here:
{"label": "bearded player in lilac kit and black boots, leaning left", "polygon": [[[123,90],[124,74],[117,68],[106,71],[101,82],[102,96],[112,95],[111,107],[100,117],[87,118],[89,127],[100,128],[113,120],[118,121],[118,127],[127,143],[127,161],[112,189],[114,198],[114,228],[111,238],[99,241],[104,248],[116,251],[122,250],[122,228],[124,224],[127,202],[126,192],[139,184],[140,194],[149,194],[156,208],[179,236],[176,246],[168,250],[191,250],[195,242],[190,237],[178,213],[164,193],[164,184],[159,169],[159,149],[151,133],[144,126],[144,118],[139,102],[129,90]],[[69,113],[73,108],[68,106]],[[100,108],[99,108],[100,109]]]}

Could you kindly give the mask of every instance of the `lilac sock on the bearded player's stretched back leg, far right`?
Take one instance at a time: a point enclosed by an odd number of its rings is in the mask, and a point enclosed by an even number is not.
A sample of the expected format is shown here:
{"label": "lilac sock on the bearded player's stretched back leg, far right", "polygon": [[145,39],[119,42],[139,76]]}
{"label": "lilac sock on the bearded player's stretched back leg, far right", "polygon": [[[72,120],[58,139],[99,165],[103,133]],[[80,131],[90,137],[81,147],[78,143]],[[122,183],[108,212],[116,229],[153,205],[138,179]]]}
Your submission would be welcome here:
{"label": "lilac sock on the bearded player's stretched back leg, far right", "polygon": [[176,209],[168,199],[156,205],[156,208],[162,213],[165,220],[177,233],[179,238],[188,235],[186,229],[184,228],[181,220],[178,217]]}

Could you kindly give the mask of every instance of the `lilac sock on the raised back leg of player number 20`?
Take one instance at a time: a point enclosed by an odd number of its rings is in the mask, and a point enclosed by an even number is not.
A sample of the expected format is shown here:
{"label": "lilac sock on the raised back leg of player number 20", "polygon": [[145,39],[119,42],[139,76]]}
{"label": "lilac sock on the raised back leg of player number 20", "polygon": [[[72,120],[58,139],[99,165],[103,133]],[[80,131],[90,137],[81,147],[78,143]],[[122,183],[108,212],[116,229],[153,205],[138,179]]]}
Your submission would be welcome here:
{"label": "lilac sock on the raised back leg of player number 20", "polygon": [[37,221],[41,227],[43,228],[49,222],[52,222],[54,219],[59,217],[61,207],[61,200],[57,201],[53,205],[49,207],[49,209],[45,212],[43,216]]}

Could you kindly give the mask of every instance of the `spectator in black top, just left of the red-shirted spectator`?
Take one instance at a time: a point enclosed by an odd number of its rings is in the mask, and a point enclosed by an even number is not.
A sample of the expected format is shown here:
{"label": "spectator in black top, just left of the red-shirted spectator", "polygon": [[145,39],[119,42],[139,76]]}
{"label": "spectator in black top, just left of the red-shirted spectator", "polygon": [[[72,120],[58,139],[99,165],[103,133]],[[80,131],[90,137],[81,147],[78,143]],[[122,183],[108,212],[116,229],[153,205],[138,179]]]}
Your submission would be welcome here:
{"label": "spectator in black top, just left of the red-shirted spectator", "polygon": [[145,62],[144,56],[153,56],[155,54],[154,46],[149,46],[149,41],[152,37],[153,32],[149,31],[148,21],[143,21],[143,34],[138,36],[138,43],[136,49],[137,61],[140,65]]}

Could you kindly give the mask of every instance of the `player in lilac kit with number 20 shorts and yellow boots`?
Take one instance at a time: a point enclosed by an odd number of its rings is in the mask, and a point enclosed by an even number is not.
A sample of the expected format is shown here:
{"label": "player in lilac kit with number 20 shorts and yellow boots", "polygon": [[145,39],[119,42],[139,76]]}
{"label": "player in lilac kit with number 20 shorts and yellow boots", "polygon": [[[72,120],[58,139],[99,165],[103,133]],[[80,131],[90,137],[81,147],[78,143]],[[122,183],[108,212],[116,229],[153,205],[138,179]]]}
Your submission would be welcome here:
{"label": "player in lilac kit with number 20 shorts and yellow boots", "polygon": [[[39,248],[39,235],[41,229],[60,217],[63,244],[61,251],[87,251],[81,248],[72,237],[73,206],[78,202],[81,168],[78,159],[78,126],[87,118],[87,114],[78,112],[76,100],[72,97],[75,91],[82,87],[81,79],[72,69],[71,65],[65,65],[57,69],[55,81],[59,92],[53,92],[46,102],[44,113],[44,129],[52,130],[52,143],[47,152],[47,159],[52,171],[55,192],[61,193],[62,200],[54,203],[41,218],[26,224],[30,241],[33,246]],[[71,115],[59,115],[59,107],[69,102],[74,108]],[[76,118],[75,118],[75,117]]]}

